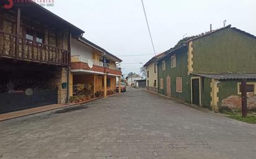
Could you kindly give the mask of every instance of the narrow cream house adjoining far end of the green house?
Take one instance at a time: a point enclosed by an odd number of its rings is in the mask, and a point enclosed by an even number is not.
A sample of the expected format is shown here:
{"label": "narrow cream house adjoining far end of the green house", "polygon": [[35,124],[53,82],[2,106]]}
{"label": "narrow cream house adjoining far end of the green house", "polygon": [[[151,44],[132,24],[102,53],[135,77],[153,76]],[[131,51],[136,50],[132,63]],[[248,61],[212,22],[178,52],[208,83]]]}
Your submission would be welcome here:
{"label": "narrow cream house adjoining far end of the green house", "polygon": [[145,65],[147,71],[146,77],[146,88],[152,92],[158,91],[158,79],[157,79],[157,60],[161,58],[165,53],[160,53],[157,56],[154,56],[150,59]]}

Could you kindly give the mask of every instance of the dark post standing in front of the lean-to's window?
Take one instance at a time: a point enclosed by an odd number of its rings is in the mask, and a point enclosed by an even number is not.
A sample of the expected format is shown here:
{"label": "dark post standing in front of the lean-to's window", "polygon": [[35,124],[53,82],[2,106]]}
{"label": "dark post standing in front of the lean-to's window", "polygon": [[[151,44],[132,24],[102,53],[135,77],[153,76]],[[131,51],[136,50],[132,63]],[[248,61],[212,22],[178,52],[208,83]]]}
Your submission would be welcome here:
{"label": "dark post standing in front of the lean-to's window", "polygon": [[247,86],[246,79],[241,80],[242,117],[247,116]]}

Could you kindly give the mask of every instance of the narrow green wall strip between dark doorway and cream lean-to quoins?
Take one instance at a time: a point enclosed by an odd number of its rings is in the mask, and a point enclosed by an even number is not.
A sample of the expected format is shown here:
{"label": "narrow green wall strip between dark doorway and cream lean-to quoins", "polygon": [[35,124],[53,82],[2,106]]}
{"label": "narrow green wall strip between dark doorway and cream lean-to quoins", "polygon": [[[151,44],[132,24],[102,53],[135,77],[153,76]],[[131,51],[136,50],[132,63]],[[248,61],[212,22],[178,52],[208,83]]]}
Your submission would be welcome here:
{"label": "narrow green wall strip between dark doorway and cream lean-to quoins", "polygon": [[211,79],[201,78],[201,104],[211,109]]}

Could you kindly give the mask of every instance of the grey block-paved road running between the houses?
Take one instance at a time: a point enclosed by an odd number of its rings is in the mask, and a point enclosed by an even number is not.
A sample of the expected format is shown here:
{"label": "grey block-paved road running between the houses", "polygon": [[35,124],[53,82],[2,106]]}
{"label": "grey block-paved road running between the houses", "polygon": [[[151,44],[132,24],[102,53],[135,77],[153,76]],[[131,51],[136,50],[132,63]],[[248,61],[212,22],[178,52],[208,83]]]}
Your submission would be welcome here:
{"label": "grey block-paved road running between the houses", "polygon": [[256,158],[256,125],[130,88],[0,122],[0,158]]}

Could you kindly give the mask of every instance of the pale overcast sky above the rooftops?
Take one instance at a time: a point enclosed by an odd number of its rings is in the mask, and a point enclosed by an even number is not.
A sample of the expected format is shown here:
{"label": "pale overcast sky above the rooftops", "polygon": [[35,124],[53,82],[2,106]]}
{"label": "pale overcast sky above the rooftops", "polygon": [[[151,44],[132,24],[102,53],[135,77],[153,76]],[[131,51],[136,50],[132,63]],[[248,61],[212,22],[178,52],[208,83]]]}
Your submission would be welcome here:
{"label": "pale overcast sky above the rooftops", "polygon": [[[173,47],[185,34],[209,31],[209,24],[213,29],[223,27],[224,20],[256,35],[255,0],[144,0],[144,5],[157,53]],[[139,73],[139,62],[145,64],[153,56],[141,0],[55,0],[54,7],[46,8],[121,58],[123,74]],[[137,54],[148,55],[130,56]]]}

